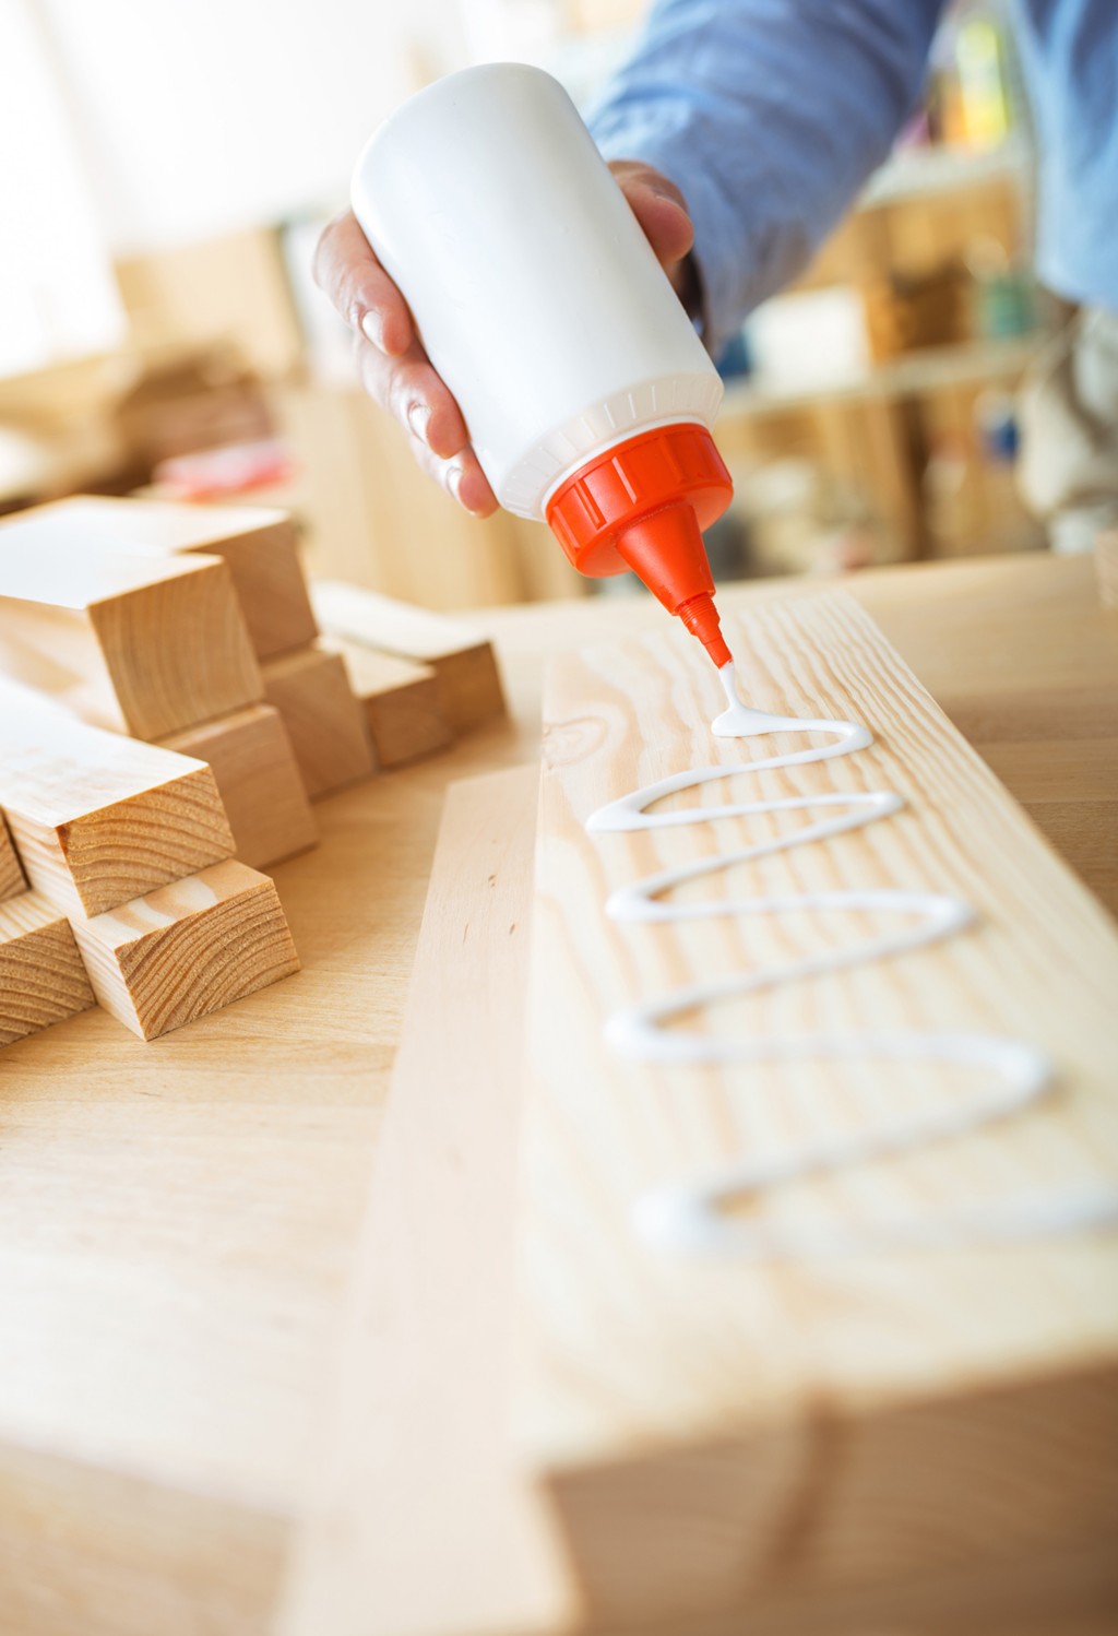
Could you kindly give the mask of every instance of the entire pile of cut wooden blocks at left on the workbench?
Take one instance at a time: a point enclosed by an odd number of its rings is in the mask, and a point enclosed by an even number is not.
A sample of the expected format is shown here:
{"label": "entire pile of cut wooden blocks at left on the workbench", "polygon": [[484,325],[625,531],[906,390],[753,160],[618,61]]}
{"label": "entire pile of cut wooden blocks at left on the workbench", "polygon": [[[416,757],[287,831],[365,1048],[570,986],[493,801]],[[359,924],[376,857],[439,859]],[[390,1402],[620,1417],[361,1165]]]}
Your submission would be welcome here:
{"label": "entire pile of cut wooden blocks at left on the workbench", "polygon": [[150,1039],[296,970],[257,869],[315,844],[309,802],[503,710],[487,643],[329,599],[356,641],[319,636],[283,512],[82,496],[0,525],[0,1044],[95,998]]}

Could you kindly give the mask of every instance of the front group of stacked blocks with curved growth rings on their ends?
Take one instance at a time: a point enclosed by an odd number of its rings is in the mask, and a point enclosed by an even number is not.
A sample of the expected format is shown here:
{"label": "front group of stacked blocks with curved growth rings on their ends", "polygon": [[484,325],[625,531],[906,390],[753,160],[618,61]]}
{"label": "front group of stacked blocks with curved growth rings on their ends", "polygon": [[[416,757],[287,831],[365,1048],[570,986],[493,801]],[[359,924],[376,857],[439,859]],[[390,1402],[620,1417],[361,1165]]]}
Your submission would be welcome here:
{"label": "front group of stacked blocks with curved growth rings on their ends", "polygon": [[155,1039],[299,969],[201,761],[3,682],[0,807],[2,1044],[95,1001]]}

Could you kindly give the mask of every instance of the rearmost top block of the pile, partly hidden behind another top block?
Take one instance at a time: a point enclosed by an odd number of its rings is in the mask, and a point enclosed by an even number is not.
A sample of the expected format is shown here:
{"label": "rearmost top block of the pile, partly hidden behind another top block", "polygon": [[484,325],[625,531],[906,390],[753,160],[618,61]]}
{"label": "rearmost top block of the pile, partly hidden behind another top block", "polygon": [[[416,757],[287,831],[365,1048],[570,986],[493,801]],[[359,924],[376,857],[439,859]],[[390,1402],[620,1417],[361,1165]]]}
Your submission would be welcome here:
{"label": "rearmost top block of the pile, partly hidden behind another top block", "polygon": [[10,533],[0,538],[31,551],[222,556],[262,659],[301,648],[319,633],[299,564],[296,525],[283,510],[78,494],[20,512],[5,527]]}

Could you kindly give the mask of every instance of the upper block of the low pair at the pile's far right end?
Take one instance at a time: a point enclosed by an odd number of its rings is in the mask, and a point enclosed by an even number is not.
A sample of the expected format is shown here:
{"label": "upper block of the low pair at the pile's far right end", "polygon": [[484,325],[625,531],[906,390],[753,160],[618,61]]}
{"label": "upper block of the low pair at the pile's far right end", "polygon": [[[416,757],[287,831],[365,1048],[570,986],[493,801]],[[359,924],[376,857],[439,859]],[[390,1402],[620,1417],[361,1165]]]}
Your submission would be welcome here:
{"label": "upper block of the low pair at the pile's far right end", "polygon": [[505,713],[494,649],[461,620],[338,579],[317,581],[311,600],[330,635],[430,664],[443,689],[446,720],[456,731]]}

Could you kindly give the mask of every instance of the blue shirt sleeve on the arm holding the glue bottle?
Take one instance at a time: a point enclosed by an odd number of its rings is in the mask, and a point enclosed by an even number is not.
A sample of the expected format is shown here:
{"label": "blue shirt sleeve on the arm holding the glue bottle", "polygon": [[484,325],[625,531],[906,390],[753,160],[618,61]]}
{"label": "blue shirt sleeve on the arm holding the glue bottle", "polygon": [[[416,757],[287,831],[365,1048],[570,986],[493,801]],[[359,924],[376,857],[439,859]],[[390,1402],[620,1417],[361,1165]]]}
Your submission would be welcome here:
{"label": "blue shirt sleeve on the arm holding the glue bottle", "polygon": [[590,116],[695,221],[711,352],[804,267],[915,108],[945,0],[657,0]]}

